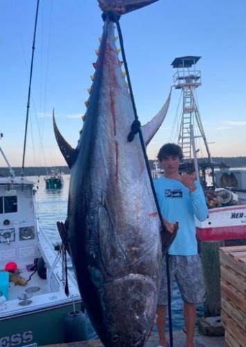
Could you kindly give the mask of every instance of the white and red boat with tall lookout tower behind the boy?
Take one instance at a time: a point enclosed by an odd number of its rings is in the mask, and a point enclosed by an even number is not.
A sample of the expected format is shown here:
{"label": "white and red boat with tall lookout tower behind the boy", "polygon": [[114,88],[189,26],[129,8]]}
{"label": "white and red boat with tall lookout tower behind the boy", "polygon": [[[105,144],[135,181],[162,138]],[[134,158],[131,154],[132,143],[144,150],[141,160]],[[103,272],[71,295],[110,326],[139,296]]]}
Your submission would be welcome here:
{"label": "white and red boat with tall lookout tower behind the boy", "polygon": [[[203,222],[196,220],[197,238],[202,241],[245,239],[246,242],[246,204],[240,201],[244,193],[243,181],[246,186],[246,171],[234,173],[235,184],[233,185],[229,184],[231,175],[224,173],[222,176],[223,173],[219,174],[215,171],[195,96],[196,88],[202,84],[201,71],[196,69],[198,60],[200,57],[185,56],[175,58],[172,62],[173,68],[176,69],[173,75],[174,87],[182,91],[183,99],[178,133],[178,144],[184,153],[181,169],[189,171],[193,161],[193,171],[195,169],[196,176],[200,178],[204,186],[209,207],[207,220]],[[207,153],[207,158],[197,159],[199,152]],[[160,171],[161,168],[158,169],[157,174]],[[210,186],[208,177],[211,181]],[[227,178],[227,184],[223,185],[225,178]],[[230,188],[225,189],[228,186]]]}

